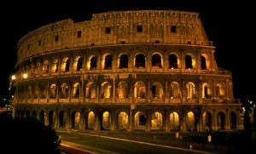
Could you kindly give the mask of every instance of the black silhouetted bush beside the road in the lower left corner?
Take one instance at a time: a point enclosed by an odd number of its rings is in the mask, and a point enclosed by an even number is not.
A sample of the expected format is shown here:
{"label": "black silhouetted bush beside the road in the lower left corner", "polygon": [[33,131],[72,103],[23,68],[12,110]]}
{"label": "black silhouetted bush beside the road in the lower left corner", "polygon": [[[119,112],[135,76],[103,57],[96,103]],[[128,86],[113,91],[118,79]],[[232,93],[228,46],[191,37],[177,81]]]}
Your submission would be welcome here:
{"label": "black silhouetted bush beside the road in the lower left corner", "polygon": [[61,144],[55,130],[33,117],[0,118],[1,153],[58,154]]}

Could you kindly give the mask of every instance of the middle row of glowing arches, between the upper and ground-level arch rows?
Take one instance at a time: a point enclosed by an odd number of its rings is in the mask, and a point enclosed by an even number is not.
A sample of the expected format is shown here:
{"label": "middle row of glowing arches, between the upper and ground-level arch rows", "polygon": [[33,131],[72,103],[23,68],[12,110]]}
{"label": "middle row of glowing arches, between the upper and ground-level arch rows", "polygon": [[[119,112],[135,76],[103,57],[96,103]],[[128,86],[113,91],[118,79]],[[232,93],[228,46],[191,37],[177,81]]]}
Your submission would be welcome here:
{"label": "middle row of glowing arches, between the upper and ground-level arch rows", "polygon": [[[149,87],[148,87],[149,85]],[[49,86],[49,87],[48,87]],[[199,88],[200,87],[200,88]],[[201,91],[199,91],[201,90]],[[214,93],[213,93],[214,92]],[[29,85],[19,85],[15,90],[16,99],[224,99],[229,97],[226,92],[225,83],[198,83],[188,82],[184,86],[178,82],[151,84],[139,81],[130,88],[126,82],[113,84],[105,81],[100,84],[87,81],[82,85],[79,82],[70,83],[29,83]]]}

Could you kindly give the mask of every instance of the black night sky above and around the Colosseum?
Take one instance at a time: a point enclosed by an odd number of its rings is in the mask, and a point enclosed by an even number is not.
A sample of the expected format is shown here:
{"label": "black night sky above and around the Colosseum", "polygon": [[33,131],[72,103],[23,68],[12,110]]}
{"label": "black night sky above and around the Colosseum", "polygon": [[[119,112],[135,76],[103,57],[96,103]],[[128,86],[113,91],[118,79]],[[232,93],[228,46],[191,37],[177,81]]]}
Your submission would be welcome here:
{"label": "black night sky above and around the Colosseum", "polygon": [[[68,18],[90,20],[91,14],[113,10],[166,9],[199,13],[207,37],[216,46],[218,67],[233,73],[236,99],[256,99],[253,57],[253,1],[218,0],[73,0],[5,2],[1,4],[2,42],[0,97],[9,94],[9,77],[15,72],[16,44],[29,31]],[[58,5],[56,3],[59,3]]]}

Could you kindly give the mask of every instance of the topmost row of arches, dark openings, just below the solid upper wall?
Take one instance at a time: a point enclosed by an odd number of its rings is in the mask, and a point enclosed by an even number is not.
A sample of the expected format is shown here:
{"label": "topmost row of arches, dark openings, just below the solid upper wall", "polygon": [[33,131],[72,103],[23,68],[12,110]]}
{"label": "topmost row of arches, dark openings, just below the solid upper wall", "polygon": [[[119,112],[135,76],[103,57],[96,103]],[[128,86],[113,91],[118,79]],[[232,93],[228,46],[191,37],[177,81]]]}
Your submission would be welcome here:
{"label": "topmost row of arches, dark openings, just below the solid upper wall", "polygon": [[[63,57],[61,60],[54,58],[53,60],[38,60],[35,62],[26,62],[20,66],[17,66],[17,77],[22,77],[23,74],[27,74],[28,77],[32,77],[38,74],[48,74],[56,72],[80,72],[83,70],[111,70],[113,68],[125,69],[125,68],[147,68],[149,65],[151,68],[168,68],[168,69],[195,69],[201,70],[210,69],[210,56],[208,54],[201,54],[201,57],[197,58],[194,54],[186,54],[183,58],[178,57],[177,53],[169,54],[166,58],[168,61],[165,63],[163,55],[159,52],[155,52],[147,62],[145,54],[135,54],[133,60],[129,59],[128,54],[119,54],[117,60],[114,60],[113,54],[103,54],[101,57],[97,57],[96,54],[91,54],[84,60],[83,56],[76,56],[73,59],[69,57]],[[132,61],[132,62],[130,62]],[[200,67],[196,66],[196,64]]]}

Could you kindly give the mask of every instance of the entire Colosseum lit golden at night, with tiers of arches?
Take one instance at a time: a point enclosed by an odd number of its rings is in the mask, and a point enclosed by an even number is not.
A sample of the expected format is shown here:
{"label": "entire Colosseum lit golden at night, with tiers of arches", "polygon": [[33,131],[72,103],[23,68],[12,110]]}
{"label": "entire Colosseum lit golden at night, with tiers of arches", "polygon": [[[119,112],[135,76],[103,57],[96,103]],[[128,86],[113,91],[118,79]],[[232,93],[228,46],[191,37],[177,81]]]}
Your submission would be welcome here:
{"label": "entire Colosseum lit golden at night, with tiers of arches", "polygon": [[129,10],[60,20],[17,43],[13,117],[108,131],[242,129],[232,73],[199,13]]}

